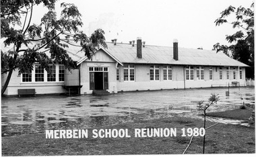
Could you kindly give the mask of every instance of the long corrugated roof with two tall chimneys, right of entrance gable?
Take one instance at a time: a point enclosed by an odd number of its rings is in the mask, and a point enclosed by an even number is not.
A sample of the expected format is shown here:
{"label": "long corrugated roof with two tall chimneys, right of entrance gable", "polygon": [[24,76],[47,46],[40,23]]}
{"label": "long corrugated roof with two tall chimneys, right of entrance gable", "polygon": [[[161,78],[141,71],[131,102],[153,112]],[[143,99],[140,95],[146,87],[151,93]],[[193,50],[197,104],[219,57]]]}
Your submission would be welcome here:
{"label": "long corrugated roof with two tall chimneys, right of entrance gable", "polygon": [[173,59],[173,48],[167,46],[142,47],[142,58],[137,58],[137,46],[131,44],[114,45],[108,43],[106,49],[120,62],[134,64],[179,64],[201,66],[247,66],[226,56],[222,52],[213,50],[199,50],[191,48],[179,48],[179,60]]}

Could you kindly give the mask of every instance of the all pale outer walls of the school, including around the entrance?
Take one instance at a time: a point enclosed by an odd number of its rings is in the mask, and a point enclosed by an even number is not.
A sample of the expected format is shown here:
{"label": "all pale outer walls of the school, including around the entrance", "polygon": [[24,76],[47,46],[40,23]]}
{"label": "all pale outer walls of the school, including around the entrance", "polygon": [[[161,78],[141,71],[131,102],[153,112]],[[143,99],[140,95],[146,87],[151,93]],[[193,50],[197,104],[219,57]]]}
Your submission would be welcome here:
{"label": "all pale outer walls of the school, including around the entrance", "polygon": [[[102,58],[98,56],[97,58]],[[213,68],[214,79],[209,80],[209,67],[204,67],[204,80],[197,81],[196,66],[194,66],[194,80],[185,81],[183,66],[172,66],[172,81],[163,80],[163,66],[160,65],[160,81],[150,81],[150,65],[136,64],[135,65],[135,81],[123,81],[123,66],[119,66],[119,81],[117,81],[117,68],[115,60],[106,59],[104,62],[92,62],[86,60],[80,64],[81,76],[81,94],[92,94],[90,90],[89,66],[105,66],[108,67],[108,92],[117,93],[120,91],[144,91],[144,90],[159,90],[159,89],[184,89],[185,88],[201,88],[201,87],[227,87],[228,83],[232,86],[232,82],[238,81],[240,86],[245,86],[245,68],[243,69],[243,79],[239,79],[238,67],[236,67],[236,80],[233,79],[232,71],[230,72],[230,79],[226,79],[226,67],[222,67],[223,79],[220,80],[219,67]],[[107,62],[106,62],[107,60]],[[111,61],[111,62],[110,62]],[[232,67],[230,68],[232,70]],[[6,74],[1,75],[1,85],[5,81]],[[59,94],[67,93],[63,89],[64,82],[44,82],[44,83],[22,83],[21,76],[18,70],[13,71],[10,83],[5,91],[5,95],[18,95],[18,89],[36,89],[36,94]]]}

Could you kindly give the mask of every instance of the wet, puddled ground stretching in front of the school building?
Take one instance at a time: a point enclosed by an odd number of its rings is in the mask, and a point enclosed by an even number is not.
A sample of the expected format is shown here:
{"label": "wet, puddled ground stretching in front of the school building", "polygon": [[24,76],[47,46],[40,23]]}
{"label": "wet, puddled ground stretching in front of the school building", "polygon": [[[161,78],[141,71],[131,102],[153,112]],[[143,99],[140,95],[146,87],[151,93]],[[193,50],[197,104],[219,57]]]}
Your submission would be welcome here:
{"label": "wet, puddled ground stretching in front of the school building", "polygon": [[[237,109],[243,103],[255,105],[254,87],[179,89],[118,93],[115,95],[3,97],[1,99],[2,136],[44,132],[45,129],[86,129],[143,119],[186,116],[201,117],[197,101],[207,101],[211,93],[220,101],[207,112]],[[222,123],[241,121],[214,119]]]}

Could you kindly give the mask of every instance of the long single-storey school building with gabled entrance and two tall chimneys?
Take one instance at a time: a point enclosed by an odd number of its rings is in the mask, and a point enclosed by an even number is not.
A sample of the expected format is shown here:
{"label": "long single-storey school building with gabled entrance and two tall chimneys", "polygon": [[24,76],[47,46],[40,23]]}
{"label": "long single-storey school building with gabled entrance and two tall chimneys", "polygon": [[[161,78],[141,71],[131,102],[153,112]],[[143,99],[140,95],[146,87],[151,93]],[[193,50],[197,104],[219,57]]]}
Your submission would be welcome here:
{"label": "long single-storey school building with gabled entrance and two tall chimneys", "polygon": [[[150,46],[137,38],[129,44],[107,43],[89,60],[81,48],[69,46],[67,52],[77,68],[65,70],[63,64],[49,65],[46,72],[34,64],[31,74],[13,71],[4,95],[22,95],[26,90],[36,95],[61,94],[77,91],[79,94],[118,93],[160,89],[187,89],[203,87],[246,86],[246,64],[229,58],[222,52]],[[2,86],[6,74],[1,75]],[[30,89],[30,90],[29,90]]]}

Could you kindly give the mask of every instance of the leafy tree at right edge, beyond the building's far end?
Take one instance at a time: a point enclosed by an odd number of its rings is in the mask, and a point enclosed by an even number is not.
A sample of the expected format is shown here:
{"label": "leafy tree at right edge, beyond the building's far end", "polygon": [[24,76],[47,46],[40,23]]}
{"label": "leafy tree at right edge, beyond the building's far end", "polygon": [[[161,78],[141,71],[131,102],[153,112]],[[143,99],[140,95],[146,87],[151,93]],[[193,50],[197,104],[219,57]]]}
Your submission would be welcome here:
{"label": "leafy tree at right edge, beyond the building's far end", "polygon": [[[230,24],[232,28],[239,28],[239,30],[232,34],[226,35],[226,40],[231,44],[230,46],[221,45],[217,43],[214,45],[214,50],[217,52],[224,52],[224,54],[243,62],[250,67],[247,68],[246,77],[254,78],[254,3],[250,8],[245,7],[228,7],[222,11],[221,16],[214,21],[216,25],[230,23],[228,17],[235,15],[236,20]],[[230,53],[229,53],[230,52]]]}

